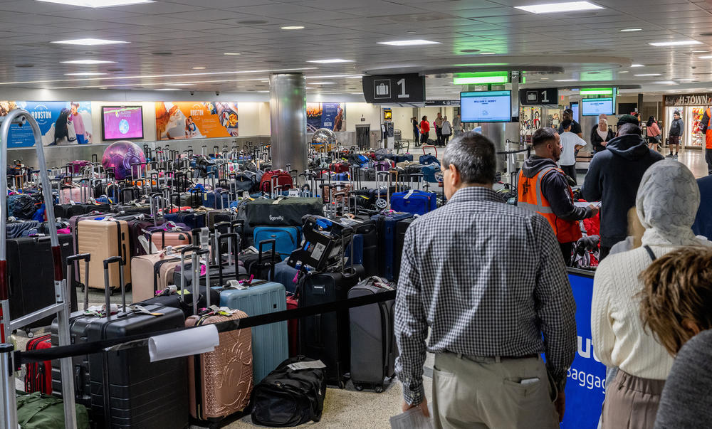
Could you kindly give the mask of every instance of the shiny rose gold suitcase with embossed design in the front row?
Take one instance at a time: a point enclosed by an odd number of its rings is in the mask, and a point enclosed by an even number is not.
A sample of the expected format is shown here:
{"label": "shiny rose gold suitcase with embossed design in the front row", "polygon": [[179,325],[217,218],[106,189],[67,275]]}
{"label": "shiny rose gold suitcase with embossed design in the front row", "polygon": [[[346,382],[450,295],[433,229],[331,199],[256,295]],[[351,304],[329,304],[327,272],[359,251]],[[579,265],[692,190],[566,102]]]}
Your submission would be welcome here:
{"label": "shiny rose gold suitcase with embossed design in the front row", "polygon": [[[211,313],[191,316],[185,326],[242,319],[239,310],[230,316]],[[221,332],[220,345],[214,351],[188,360],[188,396],[190,414],[199,420],[220,420],[243,410],[252,393],[252,330]]]}

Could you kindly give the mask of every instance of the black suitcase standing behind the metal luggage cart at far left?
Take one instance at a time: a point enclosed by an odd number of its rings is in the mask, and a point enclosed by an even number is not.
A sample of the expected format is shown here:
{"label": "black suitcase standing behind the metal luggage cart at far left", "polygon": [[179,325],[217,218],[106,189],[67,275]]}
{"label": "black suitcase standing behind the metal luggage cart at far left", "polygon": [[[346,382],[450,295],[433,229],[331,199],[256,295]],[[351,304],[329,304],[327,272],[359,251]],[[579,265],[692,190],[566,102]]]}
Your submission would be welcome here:
{"label": "black suitcase standing behind the metal luggage cart at far left", "polygon": [[[67,257],[72,254],[72,236],[58,235],[62,253],[62,267],[66,275]],[[54,263],[50,238],[21,237],[7,240],[8,290],[10,315],[13,319],[29,314],[56,302],[54,290]],[[70,288],[72,310],[77,309],[77,290]],[[31,328],[52,323],[48,316],[23,327],[31,337]]]}

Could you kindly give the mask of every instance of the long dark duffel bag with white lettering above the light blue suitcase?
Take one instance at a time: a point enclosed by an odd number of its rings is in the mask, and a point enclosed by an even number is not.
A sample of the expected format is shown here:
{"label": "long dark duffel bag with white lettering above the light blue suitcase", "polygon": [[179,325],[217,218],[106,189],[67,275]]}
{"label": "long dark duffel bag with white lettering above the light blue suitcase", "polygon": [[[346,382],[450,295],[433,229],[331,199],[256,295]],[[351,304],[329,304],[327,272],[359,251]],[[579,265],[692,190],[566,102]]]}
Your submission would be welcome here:
{"label": "long dark duffel bag with white lettering above the light blue suitcase", "polygon": [[247,226],[302,226],[302,216],[324,216],[321,198],[260,198],[244,205]]}

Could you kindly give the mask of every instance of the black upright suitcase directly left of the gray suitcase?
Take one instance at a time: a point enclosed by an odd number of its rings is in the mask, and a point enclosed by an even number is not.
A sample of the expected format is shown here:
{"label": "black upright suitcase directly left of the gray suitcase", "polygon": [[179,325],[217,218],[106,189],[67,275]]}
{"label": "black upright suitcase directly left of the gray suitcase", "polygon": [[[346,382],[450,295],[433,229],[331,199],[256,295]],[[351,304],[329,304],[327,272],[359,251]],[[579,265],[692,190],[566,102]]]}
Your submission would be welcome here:
{"label": "black upright suitcase directly left of the gray suitcase", "polygon": [[[348,291],[363,277],[363,266],[348,271],[313,272],[300,285],[299,307],[345,300]],[[346,386],[349,372],[350,340],[348,312],[329,312],[305,317],[299,324],[300,354],[320,359],[326,365],[326,380]]]}

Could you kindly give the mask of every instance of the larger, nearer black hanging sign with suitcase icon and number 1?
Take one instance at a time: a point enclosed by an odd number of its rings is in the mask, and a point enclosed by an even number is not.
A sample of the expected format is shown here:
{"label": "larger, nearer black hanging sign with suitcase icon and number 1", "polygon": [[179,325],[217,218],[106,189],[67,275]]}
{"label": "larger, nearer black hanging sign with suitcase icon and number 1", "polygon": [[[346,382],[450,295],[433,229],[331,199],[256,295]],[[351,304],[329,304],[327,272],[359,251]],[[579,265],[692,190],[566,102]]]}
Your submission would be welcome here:
{"label": "larger, nearer black hanging sign with suitcase icon and number 1", "polygon": [[417,73],[364,76],[362,85],[366,102],[373,104],[425,101],[425,76]]}

